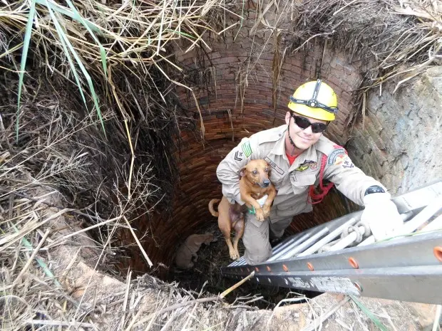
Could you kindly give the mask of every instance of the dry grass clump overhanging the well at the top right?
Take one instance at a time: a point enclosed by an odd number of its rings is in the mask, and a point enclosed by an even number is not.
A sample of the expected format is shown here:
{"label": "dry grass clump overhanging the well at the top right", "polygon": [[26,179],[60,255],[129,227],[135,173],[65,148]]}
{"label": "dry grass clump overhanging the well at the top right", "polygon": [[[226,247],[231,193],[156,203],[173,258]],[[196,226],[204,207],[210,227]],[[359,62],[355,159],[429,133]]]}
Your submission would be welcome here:
{"label": "dry grass clump overhanging the well at the top right", "polygon": [[[429,65],[442,63],[442,1],[310,0],[295,4],[289,51],[315,40],[349,56],[364,79],[354,91],[364,115],[366,93],[394,79],[397,90]],[[356,117],[354,117],[356,120]]]}

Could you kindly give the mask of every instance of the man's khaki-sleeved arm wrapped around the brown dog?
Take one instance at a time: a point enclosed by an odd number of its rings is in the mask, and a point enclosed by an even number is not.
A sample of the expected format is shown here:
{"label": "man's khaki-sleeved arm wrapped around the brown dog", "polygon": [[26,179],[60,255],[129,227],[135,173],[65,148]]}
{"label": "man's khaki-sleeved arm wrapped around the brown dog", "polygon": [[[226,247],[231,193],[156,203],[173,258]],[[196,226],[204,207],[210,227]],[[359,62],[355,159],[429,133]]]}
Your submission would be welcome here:
{"label": "man's khaki-sleeved arm wrapped around the brown dog", "polygon": [[220,162],[217,177],[222,184],[222,195],[232,204],[244,204],[240,195],[240,169],[251,159],[259,159],[259,144],[256,135],[243,138],[237,147]]}

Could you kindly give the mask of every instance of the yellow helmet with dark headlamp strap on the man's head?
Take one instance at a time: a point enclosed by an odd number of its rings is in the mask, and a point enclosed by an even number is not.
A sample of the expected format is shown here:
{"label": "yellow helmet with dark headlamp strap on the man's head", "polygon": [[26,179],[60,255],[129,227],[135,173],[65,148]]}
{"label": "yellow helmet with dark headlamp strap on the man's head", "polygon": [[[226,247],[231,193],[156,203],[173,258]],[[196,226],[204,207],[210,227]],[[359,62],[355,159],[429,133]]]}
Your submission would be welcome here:
{"label": "yellow helmet with dark headlamp strap on the man's head", "polygon": [[332,121],[338,112],[338,100],[332,88],[318,79],[299,86],[290,96],[288,107],[307,117]]}

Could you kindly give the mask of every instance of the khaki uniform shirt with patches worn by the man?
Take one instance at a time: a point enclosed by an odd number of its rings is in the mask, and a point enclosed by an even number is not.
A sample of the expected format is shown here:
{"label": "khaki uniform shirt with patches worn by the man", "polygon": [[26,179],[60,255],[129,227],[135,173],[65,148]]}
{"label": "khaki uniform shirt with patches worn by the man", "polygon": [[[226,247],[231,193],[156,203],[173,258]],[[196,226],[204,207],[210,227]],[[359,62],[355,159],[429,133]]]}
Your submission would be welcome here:
{"label": "khaki uniform shirt with patches worn by the man", "polygon": [[240,198],[239,170],[250,159],[264,159],[272,167],[270,180],[278,191],[270,212],[272,223],[284,216],[312,211],[308,192],[311,185],[319,184],[323,155],[327,155],[324,179],[333,182],[336,189],[356,204],[364,205],[364,193],[369,186],[384,187],[355,167],[344,148],[324,136],[299,154],[290,166],[285,154],[286,131],[287,125],[282,125],[244,138],[218,165],[217,177],[222,183],[222,194],[231,204],[234,201],[244,204]]}

